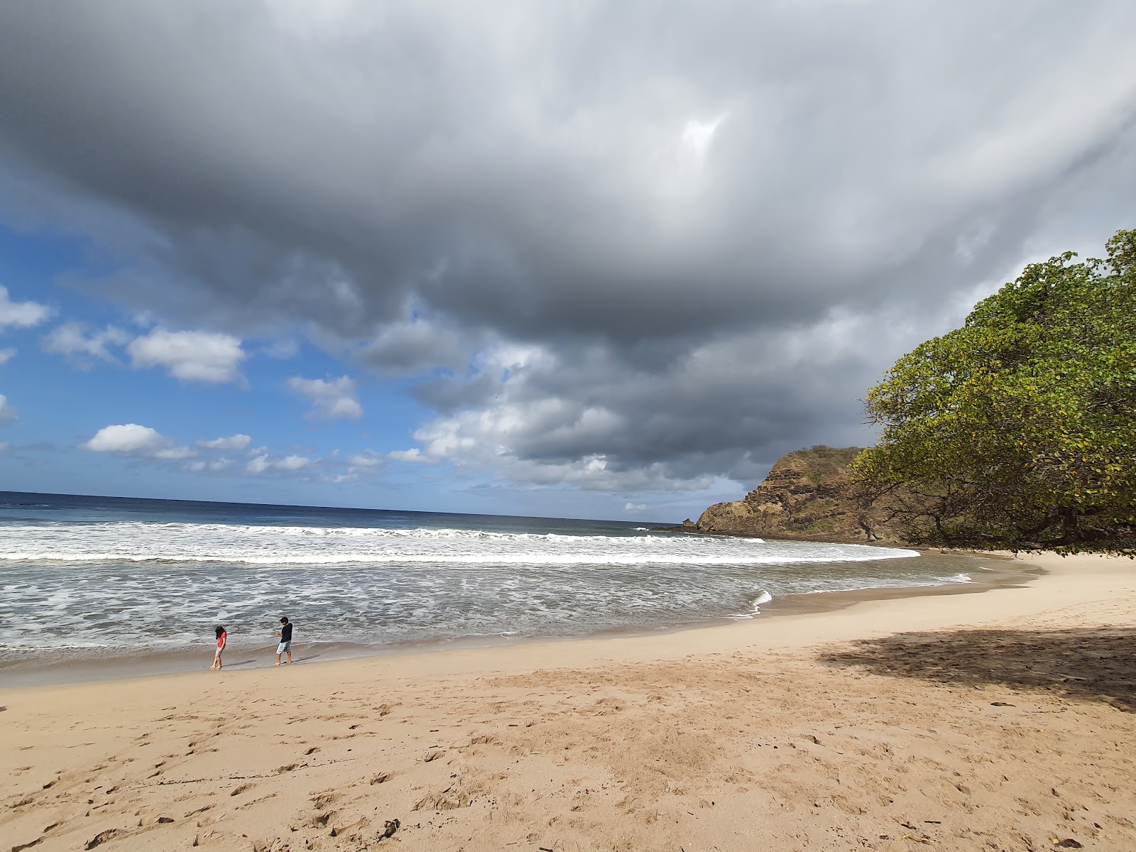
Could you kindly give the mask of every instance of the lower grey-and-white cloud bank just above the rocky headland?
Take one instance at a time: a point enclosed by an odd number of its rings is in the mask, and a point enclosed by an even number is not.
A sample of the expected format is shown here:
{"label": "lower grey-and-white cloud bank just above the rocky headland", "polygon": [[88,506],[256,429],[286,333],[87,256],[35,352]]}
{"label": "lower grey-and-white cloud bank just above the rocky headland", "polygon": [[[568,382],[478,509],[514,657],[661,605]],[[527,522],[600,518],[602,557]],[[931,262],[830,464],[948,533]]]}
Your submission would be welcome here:
{"label": "lower grey-and-white cloud bank just above the rocky headland", "polygon": [[663,490],[702,487],[718,475],[752,483],[788,450],[871,438],[858,416],[872,370],[862,342],[909,345],[910,332],[888,329],[895,319],[834,317],[724,336],[668,370],[613,370],[600,348],[504,348],[465,382],[419,387],[442,416],[416,438],[427,457],[524,482]]}

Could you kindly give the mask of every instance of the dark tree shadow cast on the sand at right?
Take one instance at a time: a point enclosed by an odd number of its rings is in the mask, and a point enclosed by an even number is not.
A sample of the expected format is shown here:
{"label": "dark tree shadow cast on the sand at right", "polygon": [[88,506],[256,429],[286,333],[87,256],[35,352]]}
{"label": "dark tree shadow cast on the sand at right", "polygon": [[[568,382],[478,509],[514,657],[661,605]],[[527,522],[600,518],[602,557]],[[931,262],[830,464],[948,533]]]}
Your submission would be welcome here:
{"label": "dark tree shadow cast on the sand at right", "polygon": [[830,666],[935,683],[1039,690],[1136,712],[1136,629],[952,630],[859,640]]}

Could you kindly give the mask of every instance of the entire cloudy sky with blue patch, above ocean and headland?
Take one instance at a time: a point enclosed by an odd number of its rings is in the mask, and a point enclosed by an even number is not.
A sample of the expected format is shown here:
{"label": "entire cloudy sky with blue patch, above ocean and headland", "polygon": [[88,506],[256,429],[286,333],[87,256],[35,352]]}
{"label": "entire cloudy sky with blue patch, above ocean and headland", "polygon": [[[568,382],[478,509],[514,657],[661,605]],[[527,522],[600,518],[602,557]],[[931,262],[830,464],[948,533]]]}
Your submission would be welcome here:
{"label": "entire cloudy sky with blue patch, above ocean and headland", "polygon": [[680,521],[1136,227],[1136,3],[0,7],[0,488]]}

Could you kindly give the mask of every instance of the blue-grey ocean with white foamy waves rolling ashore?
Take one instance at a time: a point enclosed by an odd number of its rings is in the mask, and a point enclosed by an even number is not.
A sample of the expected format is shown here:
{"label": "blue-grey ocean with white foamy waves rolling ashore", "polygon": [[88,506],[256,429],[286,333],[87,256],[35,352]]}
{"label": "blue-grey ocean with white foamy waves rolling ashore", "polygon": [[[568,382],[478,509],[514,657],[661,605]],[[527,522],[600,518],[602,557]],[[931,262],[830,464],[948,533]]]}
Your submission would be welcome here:
{"label": "blue-grey ocean with white foamy waves rolling ashore", "polygon": [[759,617],[785,596],[964,583],[969,557],[523,518],[0,492],[6,666],[295,644],[359,653]]}

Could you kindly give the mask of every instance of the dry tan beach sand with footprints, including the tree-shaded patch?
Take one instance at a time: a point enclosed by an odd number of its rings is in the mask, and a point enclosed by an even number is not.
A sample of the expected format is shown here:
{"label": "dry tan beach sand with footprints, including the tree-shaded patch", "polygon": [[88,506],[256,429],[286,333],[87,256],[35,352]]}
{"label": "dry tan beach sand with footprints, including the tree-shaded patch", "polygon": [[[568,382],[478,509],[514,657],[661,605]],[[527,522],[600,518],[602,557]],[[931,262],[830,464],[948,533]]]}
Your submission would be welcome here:
{"label": "dry tan beach sand with footprints, including the tree-shaded patch", "polygon": [[0,850],[1130,852],[1136,563],[1029,561],[662,636],[9,688]]}

